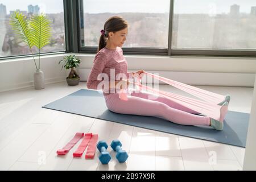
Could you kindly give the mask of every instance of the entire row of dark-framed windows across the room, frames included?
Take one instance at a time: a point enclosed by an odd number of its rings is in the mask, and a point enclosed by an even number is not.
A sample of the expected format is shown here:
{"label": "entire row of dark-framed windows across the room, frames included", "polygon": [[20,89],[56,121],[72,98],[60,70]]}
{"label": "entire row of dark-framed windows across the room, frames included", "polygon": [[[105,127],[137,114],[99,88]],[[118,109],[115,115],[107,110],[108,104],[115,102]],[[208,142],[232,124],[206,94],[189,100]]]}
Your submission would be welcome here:
{"label": "entire row of dark-framed windows across the room, frames included", "polygon": [[15,10],[51,19],[52,41],[42,52],[95,53],[104,23],[119,15],[129,23],[125,53],[256,56],[255,0],[2,0],[0,59],[30,55],[9,25]]}

